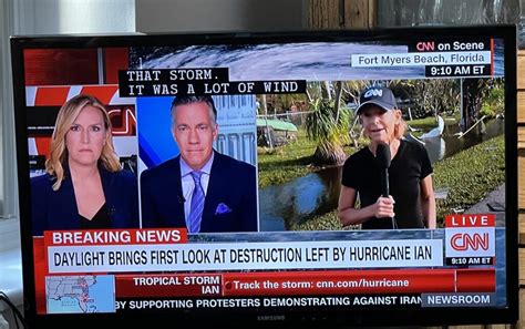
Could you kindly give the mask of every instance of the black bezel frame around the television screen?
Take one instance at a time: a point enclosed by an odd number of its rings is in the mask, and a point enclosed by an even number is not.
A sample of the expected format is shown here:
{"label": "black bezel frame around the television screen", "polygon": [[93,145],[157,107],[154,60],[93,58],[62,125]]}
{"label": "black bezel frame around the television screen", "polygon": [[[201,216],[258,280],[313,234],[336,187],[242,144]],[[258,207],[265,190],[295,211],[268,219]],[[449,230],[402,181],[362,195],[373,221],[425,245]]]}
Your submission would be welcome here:
{"label": "black bezel frame around the television screen", "polygon": [[[97,315],[37,315],[33,266],[33,240],[30,218],[30,178],[28,134],[25,125],[25,83],[23,51],[27,49],[119,48],[138,45],[243,44],[287,42],[397,41],[487,35],[504,40],[505,44],[505,166],[506,166],[506,289],[508,307],[496,308],[432,308],[413,310],[383,310],[372,307],[347,312],[343,309],[306,310],[262,309],[259,313],[218,309],[204,315],[187,312],[136,312]],[[516,111],[516,27],[414,27],[377,30],[295,31],[295,32],[224,32],[224,33],[163,33],[126,35],[38,35],[12,37],[16,146],[19,182],[19,206],[22,244],[24,310],[31,327],[83,325],[124,325],[141,327],[154,321],[181,325],[212,325],[216,328],[246,326],[266,327],[350,327],[350,326],[437,326],[514,323],[518,319],[517,271],[517,111]],[[161,323],[161,322],[158,322]]]}

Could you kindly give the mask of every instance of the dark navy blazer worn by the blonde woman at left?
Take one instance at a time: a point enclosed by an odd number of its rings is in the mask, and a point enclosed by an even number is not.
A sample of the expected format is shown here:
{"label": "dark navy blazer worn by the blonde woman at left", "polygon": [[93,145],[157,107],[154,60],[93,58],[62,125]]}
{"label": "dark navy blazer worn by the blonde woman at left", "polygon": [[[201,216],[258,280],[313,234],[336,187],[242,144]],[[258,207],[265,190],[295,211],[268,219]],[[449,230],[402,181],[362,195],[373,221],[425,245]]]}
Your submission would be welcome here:
{"label": "dark navy blazer worn by the blonde woman at left", "polygon": [[[122,171],[110,173],[100,168],[102,188],[111,219],[107,228],[138,228],[138,187],[135,176]],[[44,230],[80,229],[73,183],[66,172],[58,191],[49,174],[31,178],[31,214],[33,236]]]}

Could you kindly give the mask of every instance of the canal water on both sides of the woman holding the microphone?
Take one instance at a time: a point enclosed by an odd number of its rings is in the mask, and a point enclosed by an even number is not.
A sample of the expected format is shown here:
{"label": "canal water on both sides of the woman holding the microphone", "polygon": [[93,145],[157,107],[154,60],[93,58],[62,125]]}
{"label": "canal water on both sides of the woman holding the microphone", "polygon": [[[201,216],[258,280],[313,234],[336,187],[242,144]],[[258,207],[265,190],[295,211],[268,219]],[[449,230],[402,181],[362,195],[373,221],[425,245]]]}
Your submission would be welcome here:
{"label": "canal water on both sides of the woman holding the microphone", "polygon": [[[504,132],[503,120],[485,124],[485,134],[476,128],[462,138],[459,127],[446,124],[443,135],[425,140],[425,147],[432,163],[449,157]],[[288,230],[295,223],[331,212],[337,208],[341,182],[341,166],[329,167],[280,185],[259,191],[260,230]]]}

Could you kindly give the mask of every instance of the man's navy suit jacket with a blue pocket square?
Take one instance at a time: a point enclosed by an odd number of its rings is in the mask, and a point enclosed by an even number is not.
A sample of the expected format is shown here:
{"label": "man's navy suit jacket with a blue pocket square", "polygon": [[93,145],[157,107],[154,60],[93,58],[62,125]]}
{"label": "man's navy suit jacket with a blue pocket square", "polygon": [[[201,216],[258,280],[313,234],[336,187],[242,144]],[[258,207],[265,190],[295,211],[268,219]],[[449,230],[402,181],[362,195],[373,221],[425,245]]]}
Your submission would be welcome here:
{"label": "man's navy suit jacket with a blue pocket square", "polygon": [[[142,227],[186,227],[179,158],[142,173]],[[256,182],[253,165],[215,152],[200,232],[256,232]]]}

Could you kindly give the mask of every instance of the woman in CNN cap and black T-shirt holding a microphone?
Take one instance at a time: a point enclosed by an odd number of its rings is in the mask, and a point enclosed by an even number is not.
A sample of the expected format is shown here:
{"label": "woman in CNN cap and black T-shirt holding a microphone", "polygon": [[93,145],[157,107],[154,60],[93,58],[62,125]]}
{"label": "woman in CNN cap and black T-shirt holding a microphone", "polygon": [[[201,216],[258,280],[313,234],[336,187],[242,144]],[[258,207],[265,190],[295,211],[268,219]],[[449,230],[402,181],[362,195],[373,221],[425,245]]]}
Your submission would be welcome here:
{"label": "woman in CNN cap and black T-shirt holding a microphone", "polygon": [[[370,144],[344,162],[338,206],[342,225],[362,224],[363,229],[435,228],[429,154],[422,145],[402,138],[406,124],[392,91],[383,86],[364,90],[357,115]],[[380,144],[387,145],[390,167],[378,162]],[[382,196],[385,189],[388,197]],[[360,207],[356,208],[358,195]]]}

